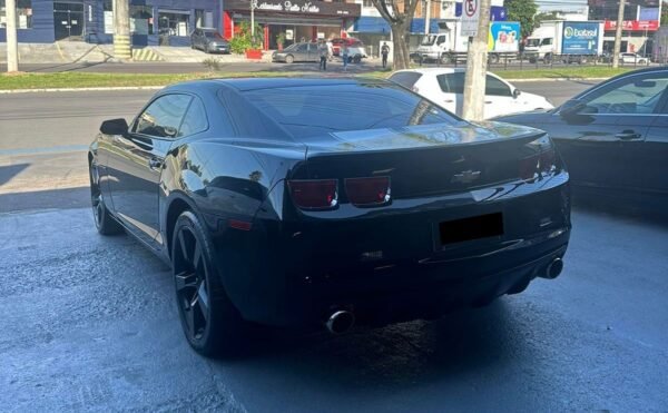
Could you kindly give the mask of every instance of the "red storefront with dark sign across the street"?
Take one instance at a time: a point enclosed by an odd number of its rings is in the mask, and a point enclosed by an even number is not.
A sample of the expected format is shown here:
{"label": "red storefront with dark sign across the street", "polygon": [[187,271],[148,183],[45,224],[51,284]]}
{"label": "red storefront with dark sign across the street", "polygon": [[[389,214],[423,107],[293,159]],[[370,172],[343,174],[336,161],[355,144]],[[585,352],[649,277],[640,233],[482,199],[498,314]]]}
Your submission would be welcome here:
{"label": "red storefront with dark sign across the street", "polygon": [[[346,28],[360,17],[361,11],[360,4],[325,1],[253,0],[253,3],[254,20],[264,30],[265,50],[277,49],[279,35],[285,38],[284,46],[345,36]],[[235,24],[242,21],[250,21],[250,1],[226,0],[224,37],[234,37]]]}

